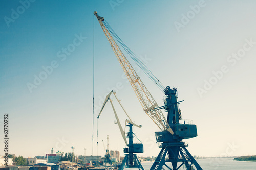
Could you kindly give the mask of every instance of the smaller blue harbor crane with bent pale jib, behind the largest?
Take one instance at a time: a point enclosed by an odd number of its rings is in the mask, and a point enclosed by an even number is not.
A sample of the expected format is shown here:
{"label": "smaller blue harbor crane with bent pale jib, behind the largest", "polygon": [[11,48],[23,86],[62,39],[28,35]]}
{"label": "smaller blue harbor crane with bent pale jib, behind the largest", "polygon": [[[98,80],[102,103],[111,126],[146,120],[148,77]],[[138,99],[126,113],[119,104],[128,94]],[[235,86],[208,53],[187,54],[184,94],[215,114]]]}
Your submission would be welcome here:
{"label": "smaller blue harbor crane with bent pale jib, behind the largest", "polygon": [[[129,118],[129,120],[125,120],[125,125],[124,127],[128,126],[129,127],[129,133],[127,133],[127,135],[125,136],[125,130],[123,130],[120,120],[117,116],[116,110],[114,108],[113,105],[113,101],[110,98],[110,95],[114,94],[116,100],[118,101],[118,103],[120,104],[121,108],[123,109],[123,111],[125,112],[126,116]],[[100,113],[98,115],[97,118],[100,117],[106,103],[110,101],[112,109],[114,111],[115,117],[116,117],[116,123],[118,124],[119,130],[121,132],[121,135],[123,137],[123,140],[125,142],[125,144],[127,145],[126,148],[123,149],[123,152],[125,153],[125,157],[119,167],[119,170],[123,170],[124,166],[126,166],[126,168],[138,168],[140,170],[144,170],[143,166],[141,165],[139,159],[137,158],[137,155],[135,153],[143,153],[143,144],[142,143],[133,143],[133,138],[134,138],[134,133],[133,133],[133,126],[136,126],[138,128],[141,128],[141,125],[137,125],[135,123],[133,123],[133,121],[131,120],[131,118],[129,117],[129,115],[127,114],[127,112],[124,110],[123,106],[120,103],[120,100],[117,99],[116,93],[112,90],[108,95],[106,95],[106,99],[102,105],[102,108],[100,110]],[[127,143],[126,138],[129,138],[129,143]]]}

